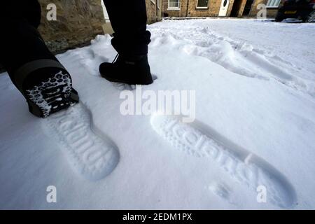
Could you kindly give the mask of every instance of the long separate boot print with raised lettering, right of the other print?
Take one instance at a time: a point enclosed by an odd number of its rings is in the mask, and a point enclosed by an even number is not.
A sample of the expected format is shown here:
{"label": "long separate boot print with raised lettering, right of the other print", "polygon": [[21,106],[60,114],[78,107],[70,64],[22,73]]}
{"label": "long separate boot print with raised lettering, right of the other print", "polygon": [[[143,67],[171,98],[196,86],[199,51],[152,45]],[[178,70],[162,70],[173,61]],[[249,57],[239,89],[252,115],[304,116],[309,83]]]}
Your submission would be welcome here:
{"label": "long separate boot print with raised lettering, right of the other print", "polygon": [[151,118],[155,132],[174,148],[197,158],[207,157],[220,165],[232,178],[252,190],[267,188],[267,202],[279,207],[295,205],[295,191],[286,178],[257,156],[248,153],[240,158],[238,152],[203,134],[172,116],[155,115]]}

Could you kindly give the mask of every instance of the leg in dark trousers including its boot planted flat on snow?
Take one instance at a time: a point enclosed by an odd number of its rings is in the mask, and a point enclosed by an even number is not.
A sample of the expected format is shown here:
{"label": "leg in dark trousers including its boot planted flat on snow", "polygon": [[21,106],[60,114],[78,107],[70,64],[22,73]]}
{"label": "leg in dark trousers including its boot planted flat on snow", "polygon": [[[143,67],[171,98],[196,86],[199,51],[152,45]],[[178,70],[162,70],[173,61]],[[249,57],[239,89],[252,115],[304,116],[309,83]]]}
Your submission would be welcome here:
{"label": "leg in dark trousers including its boot planted flat on snow", "polygon": [[147,56],[151,33],[146,30],[146,1],[104,0],[104,4],[114,31],[111,43],[119,57],[113,64],[101,64],[101,75],[121,83],[153,83]]}

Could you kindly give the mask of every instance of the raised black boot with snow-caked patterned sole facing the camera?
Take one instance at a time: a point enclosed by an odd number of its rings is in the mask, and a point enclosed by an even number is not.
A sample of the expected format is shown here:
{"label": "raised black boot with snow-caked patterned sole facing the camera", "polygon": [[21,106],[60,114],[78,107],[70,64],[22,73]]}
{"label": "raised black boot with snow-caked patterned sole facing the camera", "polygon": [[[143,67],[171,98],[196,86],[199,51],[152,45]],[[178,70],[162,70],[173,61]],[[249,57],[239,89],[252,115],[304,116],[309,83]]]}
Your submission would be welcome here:
{"label": "raised black boot with snow-caked patterned sole facing the camera", "polygon": [[15,85],[27,99],[29,112],[34,116],[46,118],[78,103],[78,92],[73,89],[71,76],[62,66],[43,67],[28,74],[25,73],[27,65],[19,70]]}

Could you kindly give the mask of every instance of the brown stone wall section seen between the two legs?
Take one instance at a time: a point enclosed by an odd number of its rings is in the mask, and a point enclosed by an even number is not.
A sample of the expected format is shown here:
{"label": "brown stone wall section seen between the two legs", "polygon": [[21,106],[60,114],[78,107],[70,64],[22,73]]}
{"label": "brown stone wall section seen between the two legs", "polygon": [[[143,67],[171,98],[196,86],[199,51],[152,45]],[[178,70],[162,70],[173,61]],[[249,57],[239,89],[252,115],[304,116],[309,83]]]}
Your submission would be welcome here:
{"label": "brown stone wall section seen between the two legs", "polygon": [[[39,0],[42,21],[39,31],[52,52],[80,47],[103,34],[104,13],[101,0]],[[57,21],[48,21],[49,3],[57,6]]]}

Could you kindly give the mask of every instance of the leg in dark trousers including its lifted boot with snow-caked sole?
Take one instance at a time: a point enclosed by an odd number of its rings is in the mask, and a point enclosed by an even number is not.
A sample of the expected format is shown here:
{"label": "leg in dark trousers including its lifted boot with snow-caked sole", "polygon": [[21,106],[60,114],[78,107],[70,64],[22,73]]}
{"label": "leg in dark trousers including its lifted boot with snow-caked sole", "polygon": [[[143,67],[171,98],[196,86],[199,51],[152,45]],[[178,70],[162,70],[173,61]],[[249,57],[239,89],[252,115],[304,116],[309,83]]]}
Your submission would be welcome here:
{"label": "leg in dark trousers including its lifted boot with snow-caked sole", "polygon": [[29,111],[46,117],[67,108],[78,98],[74,91],[71,94],[69,73],[38,34],[41,18],[38,2],[18,1],[18,12],[14,11],[16,3],[0,3],[0,63],[27,99]]}

